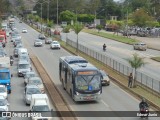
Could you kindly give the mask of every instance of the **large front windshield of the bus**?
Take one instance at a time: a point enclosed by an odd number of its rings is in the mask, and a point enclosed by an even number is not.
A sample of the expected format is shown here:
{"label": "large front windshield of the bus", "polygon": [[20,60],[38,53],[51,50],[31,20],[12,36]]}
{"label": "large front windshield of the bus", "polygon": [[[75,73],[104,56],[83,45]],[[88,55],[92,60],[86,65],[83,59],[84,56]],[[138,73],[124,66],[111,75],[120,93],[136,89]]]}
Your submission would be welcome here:
{"label": "large front windshield of the bus", "polygon": [[76,89],[81,91],[93,91],[101,88],[99,75],[78,75],[75,84]]}

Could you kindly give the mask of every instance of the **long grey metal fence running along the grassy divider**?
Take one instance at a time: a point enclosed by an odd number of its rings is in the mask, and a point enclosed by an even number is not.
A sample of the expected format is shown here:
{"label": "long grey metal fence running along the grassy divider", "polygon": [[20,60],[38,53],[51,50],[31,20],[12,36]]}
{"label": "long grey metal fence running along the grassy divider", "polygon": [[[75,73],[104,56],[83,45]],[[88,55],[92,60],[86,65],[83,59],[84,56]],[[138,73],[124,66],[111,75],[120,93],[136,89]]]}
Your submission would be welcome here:
{"label": "long grey metal fence running along the grassy divider", "polygon": [[[74,48],[77,47],[77,43],[67,39],[66,43]],[[111,58],[108,55],[104,55],[101,54],[97,51],[94,51],[90,48],[87,48],[81,44],[78,45],[78,49],[79,51],[89,55],[90,57],[95,58],[96,60],[104,63],[105,65],[111,67],[112,69],[116,70],[117,72],[128,76],[129,73],[132,72],[132,68],[124,65],[123,63],[118,62],[117,60]],[[139,71],[136,72],[136,81],[138,81],[138,83],[142,86],[147,87],[148,89],[152,89],[154,91],[156,91],[158,94],[160,94],[160,81],[149,77],[147,75],[145,75],[144,73],[141,73]]]}

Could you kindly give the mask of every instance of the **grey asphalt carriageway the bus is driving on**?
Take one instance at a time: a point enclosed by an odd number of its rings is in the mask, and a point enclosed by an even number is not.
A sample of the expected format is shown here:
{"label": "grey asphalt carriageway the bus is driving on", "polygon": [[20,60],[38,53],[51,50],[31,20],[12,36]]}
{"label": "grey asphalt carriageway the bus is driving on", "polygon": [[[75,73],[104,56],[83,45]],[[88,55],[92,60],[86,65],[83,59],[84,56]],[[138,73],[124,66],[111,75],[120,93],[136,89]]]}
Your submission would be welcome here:
{"label": "grey asphalt carriageway the bus is driving on", "polygon": [[[31,54],[35,54],[48,74],[51,76],[53,82],[60,90],[63,97],[66,99],[68,105],[73,111],[138,111],[139,101],[131,95],[121,90],[117,85],[111,83],[108,87],[103,87],[102,99],[97,102],[80,102],[75,103],[70,96],[63,90],[59,81],[58,64],[59,57],[70,55],[64,49],[51,50],[49,45],[43,47],[34,47],[34,40],[38,37],[38,32],[24,23],[16,22],[16,27],[21,30],[23,27],[28,29],[28,33],[21,34],[23,43]],[[80,120],[139,120],[139,117],[80,117]],[[150,120],[155,118],[150,118]]]}

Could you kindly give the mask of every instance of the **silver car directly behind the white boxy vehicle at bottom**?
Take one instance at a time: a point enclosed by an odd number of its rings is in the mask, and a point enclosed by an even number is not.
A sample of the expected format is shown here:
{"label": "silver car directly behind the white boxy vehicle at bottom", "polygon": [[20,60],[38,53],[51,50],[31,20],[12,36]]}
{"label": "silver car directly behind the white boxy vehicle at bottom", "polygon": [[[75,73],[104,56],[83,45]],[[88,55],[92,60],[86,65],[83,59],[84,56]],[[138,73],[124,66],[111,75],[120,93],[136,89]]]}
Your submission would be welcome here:
{"label": "silver car directly behind the white boxy vehicle at bottom", "polygon": [[26,105],[30,105],[31,96],[33,94],[41,94],[41,90],[36,85],[27,85],[24,92],[24,102],[26,103]]}

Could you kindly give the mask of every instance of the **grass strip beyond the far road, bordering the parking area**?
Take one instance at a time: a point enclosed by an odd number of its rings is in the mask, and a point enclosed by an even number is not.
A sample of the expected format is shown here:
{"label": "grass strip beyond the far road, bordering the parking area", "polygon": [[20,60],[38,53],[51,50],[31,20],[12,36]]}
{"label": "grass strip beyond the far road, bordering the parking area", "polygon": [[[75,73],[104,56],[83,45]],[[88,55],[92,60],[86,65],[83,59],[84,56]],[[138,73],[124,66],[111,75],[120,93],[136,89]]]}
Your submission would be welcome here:
{"label": "grass strip beyond the far road, bordering the parking area", "polygon": [[118,36],[115,34],[109,34],[109,33],[105,33],[105,32],[98,33],[97,30],[94,30],[94,29],[83,29],[83,32],[90,33],[90,34],[97,35],[97,36],[101,36],[101,37],[108,38],[108,39],[112,39],[112,40],[116,40],[118,42],[123,42],[123,43],[130,44],[130,45],[139,42],[138,40],[135,40],[132,38],[127,38],[124,36]]}

